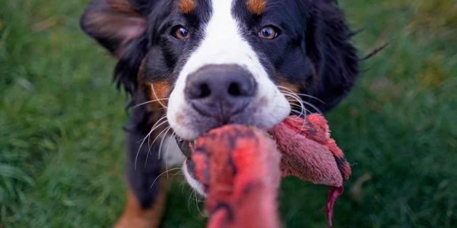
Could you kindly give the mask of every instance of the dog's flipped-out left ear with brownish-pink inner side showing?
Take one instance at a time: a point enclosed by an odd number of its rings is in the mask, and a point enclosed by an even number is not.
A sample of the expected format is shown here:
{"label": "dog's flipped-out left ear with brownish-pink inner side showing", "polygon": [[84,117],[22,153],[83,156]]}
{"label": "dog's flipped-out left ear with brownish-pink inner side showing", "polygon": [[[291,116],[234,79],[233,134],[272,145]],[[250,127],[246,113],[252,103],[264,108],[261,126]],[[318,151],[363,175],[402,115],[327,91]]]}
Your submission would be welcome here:
{"label": "dog's flipped-out left ear with brownish-pink inner side showing", "polygon": [[133,0],[92,0],[81,28],[117,57],[147,27],[146,16]]}

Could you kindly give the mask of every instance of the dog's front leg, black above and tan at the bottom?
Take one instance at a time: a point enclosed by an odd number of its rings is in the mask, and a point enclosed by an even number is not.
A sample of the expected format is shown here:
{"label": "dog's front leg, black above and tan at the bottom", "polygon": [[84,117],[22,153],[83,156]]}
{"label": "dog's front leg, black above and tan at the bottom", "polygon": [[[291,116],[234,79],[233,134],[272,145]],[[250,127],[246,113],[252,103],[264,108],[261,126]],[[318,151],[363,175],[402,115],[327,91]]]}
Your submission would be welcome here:
{"label": "dog's front leg, black above and tan at the bottom", "polygon": [[[157,157],[159,143],[154,143],[150,152],[147,141],[139,149],[145,136],[146,134],[129,134],[127,203],[116,228],[154,228],[160,224],[168,186],[166,178],[158,178],[162,165]],[[151,140],[155,137],[156,135],[150,136]]]}

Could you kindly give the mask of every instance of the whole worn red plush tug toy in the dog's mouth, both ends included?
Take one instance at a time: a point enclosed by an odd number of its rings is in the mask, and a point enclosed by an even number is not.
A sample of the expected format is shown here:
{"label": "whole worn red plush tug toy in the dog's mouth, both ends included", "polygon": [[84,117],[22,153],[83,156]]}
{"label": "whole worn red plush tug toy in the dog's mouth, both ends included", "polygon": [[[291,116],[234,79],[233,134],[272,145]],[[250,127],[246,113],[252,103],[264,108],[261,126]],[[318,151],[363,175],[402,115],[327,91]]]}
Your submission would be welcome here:
{"label": "whole worn red plush tug toy in the dog's mouth, both ends included", "polygon": [[278,228],[277,191],[281,176],[295,175],[330,185],[328,225],[351,169],[318,114],[290,116],[268,132],[226,125],[191,146],[195,174],[208,196],[207,227]]}

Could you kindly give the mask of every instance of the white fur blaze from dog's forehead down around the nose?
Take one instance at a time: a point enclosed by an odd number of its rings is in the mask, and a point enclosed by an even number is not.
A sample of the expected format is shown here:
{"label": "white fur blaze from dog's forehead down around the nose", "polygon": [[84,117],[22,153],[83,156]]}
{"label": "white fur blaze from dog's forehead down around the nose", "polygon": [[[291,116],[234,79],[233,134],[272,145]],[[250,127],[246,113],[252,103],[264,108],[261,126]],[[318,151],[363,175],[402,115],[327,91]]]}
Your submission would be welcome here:
{"label": "white fur blaze from dog's forehead down around the nose", "polygon": [[[243,39],[240,29],[245,27],[233,14],[233,0],[212,0],[212,15],[205,29],[205,38],[184,65],[173,89],[167,117],[173,130],[182,138],[193,139],[198,136],[192,120],[186,118],[189,110],[184,96],[187,76],[208,64],[236,64],[247,69],[257,82],[257,93],[251,101],[257,105],[250,116],[259,128],[270,128],[283,120],[290,112],[290,105],[270,80],[268,73],[260,64],[258,55],[250,44]],[[217,75],[215,76],[217,77]],[[260,102],[260,101],[263,102]],[[181,121],[178,123],[177,115]],[[201,132],[200,132],[201,133]]]}

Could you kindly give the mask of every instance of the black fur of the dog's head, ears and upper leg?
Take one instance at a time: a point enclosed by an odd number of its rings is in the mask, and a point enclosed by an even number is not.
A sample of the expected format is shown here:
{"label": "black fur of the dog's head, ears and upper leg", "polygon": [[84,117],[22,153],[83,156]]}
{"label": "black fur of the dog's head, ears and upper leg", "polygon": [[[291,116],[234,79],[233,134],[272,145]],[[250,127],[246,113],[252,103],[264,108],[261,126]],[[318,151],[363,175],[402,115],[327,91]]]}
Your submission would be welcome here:
{"label": "black fur of the dog's head, ears and upper leg", "polygon": [[[176,80],[188,56],[205,36],[201,27],[210,19],[211,1],[199,0],[198,8],[186,15],[177,9],[177,0],[125,0],[129,3],[130,14],[107,8],[108,1],[112,0],[93,0],[81,18],[81,27],[102,46],[118,55],[114,79],[118,87],[123,85],[132,94],[130,106],[134,106],[146,101],[145,88],[140,87],[142,81],[159,80],[173,84]],[[301,93],[324,102],[302,97],[322,111],[334,107],[353,86],[358,72],[356,51],[348,40],[352,33],[336,1],[268,2],[264,14],[254,15],[249,12],[244,0],[236,0],[234,14],[247,26],[244,38],[259,55],[273,81],[299,85]],[[93,14],[140,17],[146,26],[125,41],[125,37],[113,36],[116,34],[114,31],[110,34],[101,32],[101,28],[90,21]],[[170,33],[176,25],[189,29],[193,39],[188,42],[173,39]],[[266,25],[279,28],[277,39],[266,41],[258,37],[257,32]],[[142,63],[143,69],[139,72]],[[313,108],[310,110],[315,111]],[[152,145],[152,156],[148,157],[145,167],[149,148],[143,146],[139,151],[138,141],[157,121],[152,117],[161,116],[163,111],[155,110],[153,113],[144,106],[134,108],[126,127],[129,134],[129,183],[144,208],[150,207],[157,195],[158,182],[152,188],[151,185],[159,175],[161,162],[157,159],[157,145]]]}

